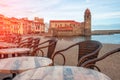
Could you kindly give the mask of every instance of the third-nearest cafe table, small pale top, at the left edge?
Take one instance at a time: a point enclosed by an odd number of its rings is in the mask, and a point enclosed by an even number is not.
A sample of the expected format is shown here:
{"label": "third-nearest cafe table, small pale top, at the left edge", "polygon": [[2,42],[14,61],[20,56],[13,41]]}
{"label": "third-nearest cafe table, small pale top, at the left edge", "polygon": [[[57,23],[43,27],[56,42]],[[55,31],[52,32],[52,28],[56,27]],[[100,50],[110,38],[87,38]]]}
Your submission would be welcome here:
{"label": "third-nearest cafe table, small pale top, at the left edge", "polygon": [[0,49],[0,58],[8,58],[22,55],[29,55],[29,48],[5,48]]}

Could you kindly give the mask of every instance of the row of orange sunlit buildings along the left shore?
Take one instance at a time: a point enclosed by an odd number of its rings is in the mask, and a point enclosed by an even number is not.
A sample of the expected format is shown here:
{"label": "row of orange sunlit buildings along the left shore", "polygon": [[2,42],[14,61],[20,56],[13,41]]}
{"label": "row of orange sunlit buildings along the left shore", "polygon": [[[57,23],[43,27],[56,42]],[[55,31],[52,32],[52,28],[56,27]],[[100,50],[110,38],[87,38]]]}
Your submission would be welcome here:
{"label": "row of orange sunlit buildings along the left shore", "polygon": [[8,18],[0,14],[0,33],[1,34],[30,34],[45,32],[44,19],[35,17],[28,20],[27,17],[17,19]]}

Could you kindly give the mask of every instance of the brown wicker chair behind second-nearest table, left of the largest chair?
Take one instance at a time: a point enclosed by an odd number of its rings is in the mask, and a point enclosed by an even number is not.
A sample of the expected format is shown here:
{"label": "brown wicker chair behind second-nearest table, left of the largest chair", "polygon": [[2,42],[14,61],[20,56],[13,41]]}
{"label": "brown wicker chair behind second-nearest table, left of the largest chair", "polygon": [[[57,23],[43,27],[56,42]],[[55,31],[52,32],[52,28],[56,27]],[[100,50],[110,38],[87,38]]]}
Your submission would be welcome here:
{"label": "brown wicker chair behind second-nearest table, left of the largest chair", "polygon": [[52,54],[54,53],[56,44],[57,44],[56,39],[46,40],[40,44],[37,44],[34,46],[34,50],[32,51],[31,56],[45,56],[44,49],[48,49],[47,57],[51,58]]}

